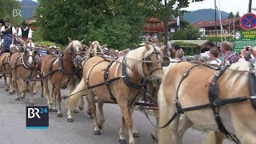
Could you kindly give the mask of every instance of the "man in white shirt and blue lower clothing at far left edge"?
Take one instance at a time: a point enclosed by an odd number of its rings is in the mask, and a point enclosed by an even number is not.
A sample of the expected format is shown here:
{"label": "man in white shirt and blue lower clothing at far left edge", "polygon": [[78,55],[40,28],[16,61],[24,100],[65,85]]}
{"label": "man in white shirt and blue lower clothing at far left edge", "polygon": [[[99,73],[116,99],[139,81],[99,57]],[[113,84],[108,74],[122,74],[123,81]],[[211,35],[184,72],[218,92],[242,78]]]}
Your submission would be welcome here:
{"label": "man in white shirt and blue lower clothing at far left edge", "polygon": [[2,26],[1,33],[3,34],[3,48],[2,52],[10,52],[10,44],[13,40],[13,34],[16,34],[14,26],[10,26],[10,19],[7,18],[5,26]]}

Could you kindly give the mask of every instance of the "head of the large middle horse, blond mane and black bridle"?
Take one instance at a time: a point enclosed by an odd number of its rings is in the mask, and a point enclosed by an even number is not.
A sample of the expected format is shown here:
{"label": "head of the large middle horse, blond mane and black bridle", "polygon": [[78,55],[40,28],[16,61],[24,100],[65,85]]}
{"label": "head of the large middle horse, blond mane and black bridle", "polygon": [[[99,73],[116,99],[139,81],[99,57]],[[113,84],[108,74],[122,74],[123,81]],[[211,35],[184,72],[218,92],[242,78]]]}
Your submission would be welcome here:
{"label": "head of the large middle horse, blond mane and black bridle", "polygon": [[130,62],[134,59],[134,65],[138,65],[138,74],[153,82],[154,86],[160,86],[162,82],[162,51],[165,47],[151,46],[149,42],[145,42],[145,46],[131,50],[127,54],[127,58],[131,59]]}

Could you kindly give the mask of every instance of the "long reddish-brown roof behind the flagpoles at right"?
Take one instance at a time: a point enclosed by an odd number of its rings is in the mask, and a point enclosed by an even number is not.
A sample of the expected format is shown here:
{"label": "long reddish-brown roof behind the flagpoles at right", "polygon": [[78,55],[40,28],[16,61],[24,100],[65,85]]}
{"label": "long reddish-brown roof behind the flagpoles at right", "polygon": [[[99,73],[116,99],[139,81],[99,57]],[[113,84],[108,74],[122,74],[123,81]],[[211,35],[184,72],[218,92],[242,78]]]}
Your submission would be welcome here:
{"label": "long reddish-brown roof behind the flagpoles at right", "polygon": [[[238,22],[238,21],[240,21],[240,18],[226,18],[226,19],[222,19],[222,26],[228,26],[230,23],[232,25],[233,22]],[[217,20],[216,24],[217,24],[217,26],[220,26],[219,20]],[[196,27],[213,27],[213,26],[215,26],[215,20],[194,22],[194,23],[192,23],[192,26],[196,26]]]}

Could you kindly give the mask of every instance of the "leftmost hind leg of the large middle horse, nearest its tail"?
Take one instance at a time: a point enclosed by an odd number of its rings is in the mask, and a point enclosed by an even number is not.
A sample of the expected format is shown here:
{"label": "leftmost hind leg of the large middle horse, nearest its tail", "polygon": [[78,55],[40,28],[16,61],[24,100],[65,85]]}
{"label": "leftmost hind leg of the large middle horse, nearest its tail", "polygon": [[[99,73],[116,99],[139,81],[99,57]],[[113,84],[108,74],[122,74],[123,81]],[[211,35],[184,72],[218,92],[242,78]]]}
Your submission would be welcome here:
{"label": "leftmost hind leg of the large middle horse, nearest its tail", "polygon": [[91,110],[92,115],[94,117],[94,134],[95,135],[100,135],[101,131],[99,129],[99,125],[98,125],[98,121],[97,121],[94,94],[90,90],[87,91],[87,98],[88,98],[88,101],[90,102],[90,110]]}

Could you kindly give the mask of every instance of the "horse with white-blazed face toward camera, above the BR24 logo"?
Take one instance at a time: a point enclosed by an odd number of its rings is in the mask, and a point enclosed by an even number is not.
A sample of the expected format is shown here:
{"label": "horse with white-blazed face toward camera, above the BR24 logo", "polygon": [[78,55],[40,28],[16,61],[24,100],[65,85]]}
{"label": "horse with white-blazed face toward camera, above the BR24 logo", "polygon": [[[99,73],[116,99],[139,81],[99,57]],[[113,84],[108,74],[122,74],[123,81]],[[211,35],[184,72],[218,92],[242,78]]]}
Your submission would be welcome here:
{"label": "horse with white-blazed face toward camera, above the BR24 logo", "polygon": [[25,98],[26,86],[29,85],[30,105],[34,105],[34,85],[35,82],[29,82],[30,78],[36,78],[38,74],[35,55],[37,51],[33,48],[25,48],[23,53],[15,53],[10,56],[10,71],[12,74],[13,87],[16,90],[15,100]]}

